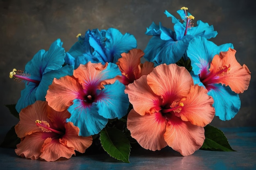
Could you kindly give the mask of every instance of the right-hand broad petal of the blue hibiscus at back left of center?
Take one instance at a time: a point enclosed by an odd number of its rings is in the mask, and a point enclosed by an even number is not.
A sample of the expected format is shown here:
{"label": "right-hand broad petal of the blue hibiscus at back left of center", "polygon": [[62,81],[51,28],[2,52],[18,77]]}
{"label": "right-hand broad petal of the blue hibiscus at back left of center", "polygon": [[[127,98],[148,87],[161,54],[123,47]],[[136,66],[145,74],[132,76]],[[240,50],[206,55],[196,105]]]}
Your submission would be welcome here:
{"label": "right-hand broad petal of the blue hibiscus at back left of center", "polygon": [[121,53],[128,53],[131,49],[137,47],[137,41],[130,33],[124,35],[114,28],[110,28],[106,32],[106,55],[108,62],[116,63],[121,57]]}

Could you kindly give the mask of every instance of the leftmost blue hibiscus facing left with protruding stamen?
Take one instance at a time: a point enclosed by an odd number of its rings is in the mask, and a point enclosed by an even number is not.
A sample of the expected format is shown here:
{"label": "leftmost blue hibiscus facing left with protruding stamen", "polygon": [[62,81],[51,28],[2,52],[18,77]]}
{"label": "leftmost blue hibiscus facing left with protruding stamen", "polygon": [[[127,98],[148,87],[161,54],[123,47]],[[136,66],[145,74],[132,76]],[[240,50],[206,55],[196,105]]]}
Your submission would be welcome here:
{"label": "leftmost blue hibiscus facing left with protruding stamen", "polygon": [[64,66],[65,50],[60,39],[52,43],[49,51],[40,50],[34,55],[26,66],[25,71],[13,69],[10,77],[26,82],[21,91],[20,99],[16,104],[16,110],[34,104],[36,100],[45,101],[48,86],[52,84],[54,77],[60,78],[72,75],[74,67]]}

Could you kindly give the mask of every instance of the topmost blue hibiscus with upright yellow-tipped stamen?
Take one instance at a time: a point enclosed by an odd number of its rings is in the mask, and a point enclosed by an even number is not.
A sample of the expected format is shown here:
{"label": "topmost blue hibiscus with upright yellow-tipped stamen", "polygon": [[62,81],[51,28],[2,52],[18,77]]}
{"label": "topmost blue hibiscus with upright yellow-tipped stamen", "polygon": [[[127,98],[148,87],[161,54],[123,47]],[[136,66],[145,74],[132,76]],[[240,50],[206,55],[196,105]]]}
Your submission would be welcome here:
{"label": "topmost blue hibiscus with upright yellow-tipped stamen", "polygon": [[153,37],[144,50],[144,57],[148,61],[154,62],[155,66],[179,61],[184,56],[190,40],[194,37],[200,36],[207,39],[216,37],[217,31],[214,31],[213,26],[209,26],[208,23],[198,20],[197,26],[193,26],[194,17],[186,10],[186,7],[182,7],[177,11],[183,22],[180,22],[168,11],[164,12],[167,17],[172,18],[174,31],[162,26],[161,22],[159,25],[153,22],[147,28],[146,35],[153,35]]}

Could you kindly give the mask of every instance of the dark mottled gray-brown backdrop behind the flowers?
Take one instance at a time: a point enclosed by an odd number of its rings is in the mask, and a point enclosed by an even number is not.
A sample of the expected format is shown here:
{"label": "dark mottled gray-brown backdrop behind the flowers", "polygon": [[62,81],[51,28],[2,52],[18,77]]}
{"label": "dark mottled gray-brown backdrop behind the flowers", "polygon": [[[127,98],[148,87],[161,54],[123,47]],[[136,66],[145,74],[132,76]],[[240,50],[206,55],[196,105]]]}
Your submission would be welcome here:
{"label": "dark mottled gray-brown backdrop behind the flowers", "polygon": [[165,10],[175,15],[180,7],[189,7],[197,20],[208,22],[218,31],[211,39],[217,45],[233,43],[240,64],[252,72],[249,89],[240,95],[241,108],[234,119],[213,119],[216,127],[256,126],[255,58],[256,14],[254,0],[1,0],[0,1],[0,126],[13,126],[18,119],[9,114],[4,104],[14,104],[24,84],[9,79],[13,68],[23,70],[40,50],[48,50],[57,38],[68,51],[78,33],[88,29],[114,27],[129,32],[144,50],[149,36],[146,27],[154,21],[173,29]]}

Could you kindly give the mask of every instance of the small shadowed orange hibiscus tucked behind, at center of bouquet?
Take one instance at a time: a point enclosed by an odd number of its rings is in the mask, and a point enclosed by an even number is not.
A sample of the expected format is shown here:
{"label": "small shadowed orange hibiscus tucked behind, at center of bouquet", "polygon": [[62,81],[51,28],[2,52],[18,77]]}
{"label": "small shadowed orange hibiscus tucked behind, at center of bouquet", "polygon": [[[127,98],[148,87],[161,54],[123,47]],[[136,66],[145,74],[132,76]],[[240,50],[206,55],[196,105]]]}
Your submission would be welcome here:
{"label": "small shadowed orange hibiscus tucked behind, at center of bouquet", "polygon": [[153,62],[144,62],[141,64],[140,59],[144,53],[140,49],[132,49],[128,53],[121,53],[117,65],[122,73],[117,79],[124,85],[132,83],[142,75],[148,75],[154,68]]}

